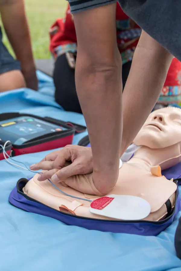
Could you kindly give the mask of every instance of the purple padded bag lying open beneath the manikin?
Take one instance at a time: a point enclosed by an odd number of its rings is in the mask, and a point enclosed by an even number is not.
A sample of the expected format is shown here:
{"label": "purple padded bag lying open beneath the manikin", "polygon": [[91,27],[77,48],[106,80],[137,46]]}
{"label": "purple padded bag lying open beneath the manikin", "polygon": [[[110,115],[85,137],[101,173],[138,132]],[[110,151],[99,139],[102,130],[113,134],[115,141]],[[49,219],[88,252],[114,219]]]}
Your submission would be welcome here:
{"label": "purple padded bag lying open beneath the manikin", "polygon": [[[78,145],[89,146],[88,136],[82,139]],[[174,178],[174,182],[178,184],[181,176],[181,163],[174,167],[164,170],[162,174],[167,178]],[[167,216],[160,221],[118,221],[118,220],[100,220],[81,216],[74,216],[71,214],[63,213],[53,209],[39,201],[30,198],[22,191],[23,187],[28,182],[27,179],[22,178],[17,182],[16,187],[9,195],[9,203],[19,209],[25,210],[30,213],[37,213],[44,216],[49,216],[57,219],[67,225],[79,226],[90,230],[99,230],[103,232],[115,233],[129,233],[145,236],[156,236],[170,226],[175,219],[178,212],[181,210],[181,200],[179,196],[179,188],[176,190],[176,204],[173,210],[170,209],[169,200],[167,201]]]}

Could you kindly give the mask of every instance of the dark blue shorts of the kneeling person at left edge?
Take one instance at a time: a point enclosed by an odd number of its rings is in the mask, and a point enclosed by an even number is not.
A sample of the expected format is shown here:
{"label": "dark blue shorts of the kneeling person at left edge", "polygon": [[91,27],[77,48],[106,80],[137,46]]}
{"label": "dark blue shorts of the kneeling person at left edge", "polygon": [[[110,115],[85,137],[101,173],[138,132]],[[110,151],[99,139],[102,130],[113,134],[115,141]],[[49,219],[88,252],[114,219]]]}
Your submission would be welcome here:
{"label": "dark blue shorts of the kneeling person at left edge", "polygon": [[2,30],[0,27],[0,74],[11,70],[21,70],[20,62],[15,60],[2,42]]}

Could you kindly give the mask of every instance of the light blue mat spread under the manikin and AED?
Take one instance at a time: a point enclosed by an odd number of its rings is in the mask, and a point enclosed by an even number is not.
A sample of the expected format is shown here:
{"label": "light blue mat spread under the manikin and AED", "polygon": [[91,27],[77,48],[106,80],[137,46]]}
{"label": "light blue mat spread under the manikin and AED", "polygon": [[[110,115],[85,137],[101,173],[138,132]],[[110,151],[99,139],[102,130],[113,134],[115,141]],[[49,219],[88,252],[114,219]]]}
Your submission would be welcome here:
{"label": "light blue mat spread under the manikin and AED", "polygon": [[[21,89],[0,95],[0,112],[26,112],[71,120],[80,114],[65,112],[53,98],[49,77],[38,73],[40,91]],[[77,144],[87,132],[75,136]],[[33,164],[48,152],[17,160]],[[32,173],[0,161],[0,270],[2,271],[176,271],[181,261],[173,245],[177,220],[157,237],[112,234],[66,226],[59,221],[12,207],[8,196],[18,179]]]}

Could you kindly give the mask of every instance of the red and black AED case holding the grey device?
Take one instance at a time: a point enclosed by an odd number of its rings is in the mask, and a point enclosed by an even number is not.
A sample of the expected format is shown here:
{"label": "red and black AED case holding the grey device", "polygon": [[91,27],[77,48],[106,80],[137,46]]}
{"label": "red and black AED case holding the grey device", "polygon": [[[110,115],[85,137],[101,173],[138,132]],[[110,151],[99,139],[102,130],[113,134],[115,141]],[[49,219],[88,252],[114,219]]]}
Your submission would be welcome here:
{"label": "red and black AED case holding the grey device", "polygon": [[[84,132],[86,130],[85,126],[81,126],[79,124],[75,124],[72,122],[64,122],[62,120],[57,120],[50,117],[44,117],[44,118],[38,117],[31,114],[3,113],[3,114],[0,114],[0,121],[8,121],[17,117],[30,117],[30,118],[38,119],[40,121],[44,121],[46,123],[55,124],[57,126],[60,126],[60,128],[61,127],[63,128],[62,130],[60,129],[60,131],[58,129],[58,131],[56,132],[49,132],[48,134],[46,133],[45,135],[41,135],[37,137],[35,136],[33,139],[27,140],[21,145],[12,144],[12,156],[35,153],[39,151],[47,151],[47,150],[52,150],[55,148],[65,147],[66,145],[72,144],[75,133]],[[1,134],[0,134],[0,138],[1,138]],[[6,136],[6,139],[9,140],[8,136]],[[7,145],[7,148],[8,148],[8,145]],[[2,159],[4,159],[3,151],[2,151]]]}

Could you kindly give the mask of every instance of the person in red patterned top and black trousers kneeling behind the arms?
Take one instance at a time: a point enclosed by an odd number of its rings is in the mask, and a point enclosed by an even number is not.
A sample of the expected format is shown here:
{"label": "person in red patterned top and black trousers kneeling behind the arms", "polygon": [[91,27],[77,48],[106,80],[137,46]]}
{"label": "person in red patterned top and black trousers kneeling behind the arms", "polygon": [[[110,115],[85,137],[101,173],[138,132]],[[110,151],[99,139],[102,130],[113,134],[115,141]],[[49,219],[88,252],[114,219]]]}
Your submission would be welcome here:
{"label": "person in red patterned top and black trousers kneeling behind the arms", "polygon": [[[122,84],[124,89],[141,29],[122,11],[118,2],[116,4],[116,34],[117,45],[122,58]],[[56,87],[56,102],[66,111],[82,113],[75,88],[77,38],[69,5],[65,17],[57,19],[50,28],[49,49],[55,59],[53,79]],[[180,102],[181,62],[174,58],[155,109],[170,104],[179,104]]]}

